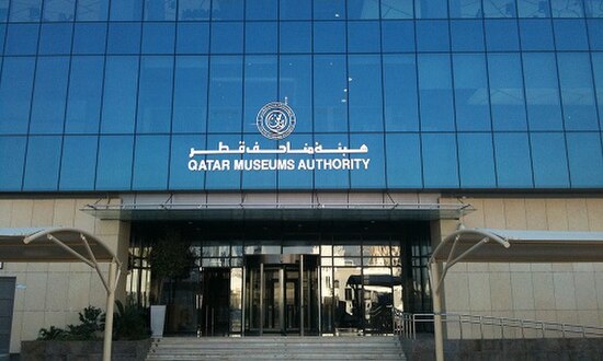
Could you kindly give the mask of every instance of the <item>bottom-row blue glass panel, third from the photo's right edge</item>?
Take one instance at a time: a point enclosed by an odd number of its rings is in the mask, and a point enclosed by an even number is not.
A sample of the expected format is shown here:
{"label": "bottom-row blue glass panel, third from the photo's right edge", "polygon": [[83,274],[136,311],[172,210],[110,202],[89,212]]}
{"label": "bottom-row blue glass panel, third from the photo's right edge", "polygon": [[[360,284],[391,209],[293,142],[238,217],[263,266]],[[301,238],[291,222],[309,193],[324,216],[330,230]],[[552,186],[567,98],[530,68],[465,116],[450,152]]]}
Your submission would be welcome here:
{"label": "bottom-row blue glass panel, third from the photo's right edge", "polygon": [[497,178],[501,188],[532,188],[532,163],[527,133],[496,132]]}

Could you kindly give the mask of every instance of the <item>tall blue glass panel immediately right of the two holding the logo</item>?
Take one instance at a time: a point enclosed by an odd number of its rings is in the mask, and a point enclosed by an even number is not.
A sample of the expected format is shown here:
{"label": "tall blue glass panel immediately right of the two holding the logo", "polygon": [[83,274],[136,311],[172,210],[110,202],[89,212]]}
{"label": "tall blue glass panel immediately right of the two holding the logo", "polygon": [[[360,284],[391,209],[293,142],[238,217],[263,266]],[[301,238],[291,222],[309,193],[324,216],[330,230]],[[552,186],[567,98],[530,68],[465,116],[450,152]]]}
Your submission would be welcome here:
{"label": "tall blue glass panel immediately right of the two holding the logo", "polygon": [[344,56],[314,58],[314,130],[348,130],[348,69]]}

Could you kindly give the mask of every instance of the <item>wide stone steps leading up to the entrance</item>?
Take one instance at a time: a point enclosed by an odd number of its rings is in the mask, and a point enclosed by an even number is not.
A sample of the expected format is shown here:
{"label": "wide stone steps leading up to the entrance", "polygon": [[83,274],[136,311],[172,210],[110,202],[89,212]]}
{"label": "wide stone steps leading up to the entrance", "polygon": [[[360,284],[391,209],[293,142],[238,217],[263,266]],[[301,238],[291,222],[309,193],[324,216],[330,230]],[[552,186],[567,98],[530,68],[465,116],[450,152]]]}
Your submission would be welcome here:
{"label": "wide stone steps leading up to the entrance", "polygon": [[395,336],[167,337],[147,360],[406,360]]}

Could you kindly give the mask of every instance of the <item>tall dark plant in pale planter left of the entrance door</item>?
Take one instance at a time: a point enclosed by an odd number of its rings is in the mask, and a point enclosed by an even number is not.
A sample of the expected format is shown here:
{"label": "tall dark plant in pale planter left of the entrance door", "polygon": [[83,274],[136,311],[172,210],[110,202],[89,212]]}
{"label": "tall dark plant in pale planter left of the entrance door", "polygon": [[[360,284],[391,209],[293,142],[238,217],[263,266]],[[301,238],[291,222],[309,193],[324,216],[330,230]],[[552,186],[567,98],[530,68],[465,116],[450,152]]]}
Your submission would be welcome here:
{"label": "tall dark plant in pale planter left of the entrance door", "polygon": [[[155,296],[151,298],[151,333],[153,338],[163,337],[166,324],[166,305],[171,304],[174,294],[174,283],[189,277],[194,266],[194,257],[190,244],[180,232],[166,230],[152,243],[149,254],[151,280]],[[169,292],[164,293],[164,284],[169,282]],[[152,304],[155,303],[155,304]]]}

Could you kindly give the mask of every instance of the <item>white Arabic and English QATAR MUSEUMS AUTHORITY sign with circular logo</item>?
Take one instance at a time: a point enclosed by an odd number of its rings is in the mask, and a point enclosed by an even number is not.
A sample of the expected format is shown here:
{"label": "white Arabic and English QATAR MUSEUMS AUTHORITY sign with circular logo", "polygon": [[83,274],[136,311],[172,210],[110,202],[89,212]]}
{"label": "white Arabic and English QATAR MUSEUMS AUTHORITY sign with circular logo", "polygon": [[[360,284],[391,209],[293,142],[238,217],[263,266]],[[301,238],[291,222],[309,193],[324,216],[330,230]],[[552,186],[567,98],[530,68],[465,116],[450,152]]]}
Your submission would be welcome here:
{"label": "white Arabic and English QATAR MUSEUMS AUTHORITY sign with circular logo", "polygon": [[[255,123],[262,136],[271,140],[281,140],[293,132],[296,118],[285,98],[285,103],[272,102],[264,105],[258,113]],[[248,145],[244,140],[241,140],[238,145],[231,148],[220,141],[215,149],[191,148],[189,171],[366,171],[371,159],[352,158],[352,155],[367,153],[366,144],[348,148],[341,142],[337,147],[326,148],[319,142],[315,142],[314,145],[304,143],[303,147],[295,147],[287,141],[274,149],[262,149],[258,142]],[[246,154],[260,155],[261,158],[243,159],[242,155]],[[287,158],[289,154],[305,158]],[[220,158],[216,159],[217,155]],[[329,155],[329,158],[323,155]]]}

